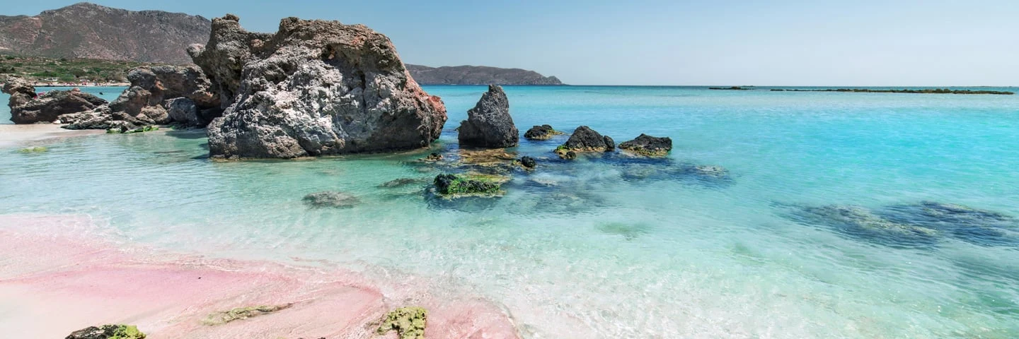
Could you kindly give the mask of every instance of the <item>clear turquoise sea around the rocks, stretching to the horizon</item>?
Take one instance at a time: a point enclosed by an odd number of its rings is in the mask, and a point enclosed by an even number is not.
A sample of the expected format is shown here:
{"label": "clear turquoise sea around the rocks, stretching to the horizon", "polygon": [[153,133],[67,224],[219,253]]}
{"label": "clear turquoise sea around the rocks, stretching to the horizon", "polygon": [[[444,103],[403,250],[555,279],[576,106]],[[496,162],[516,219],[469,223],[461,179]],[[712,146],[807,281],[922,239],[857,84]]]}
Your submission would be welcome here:
{"label": "clear turquoise sea around the rocks, stretching to the horizon", "polygon": [[[438,172],[414,160],[454,149],[486,89],[425,89],[449,120],[433,150],[406,154],[212,162],[201,130],[3,149],[0,214],[88,214],[176,251],[428,277],[502,305],[528,338],[1019,337],[1019,96],[507,87],[522,133],[588,125],[675,149],[564,162],[551,150],[565,137],[522,137],[511,151],[536,171],[500,200],[445,203],[422,192]],[[379,187],[397,178],[423,181]],[[302,203],[322,190],[362,204]]]}

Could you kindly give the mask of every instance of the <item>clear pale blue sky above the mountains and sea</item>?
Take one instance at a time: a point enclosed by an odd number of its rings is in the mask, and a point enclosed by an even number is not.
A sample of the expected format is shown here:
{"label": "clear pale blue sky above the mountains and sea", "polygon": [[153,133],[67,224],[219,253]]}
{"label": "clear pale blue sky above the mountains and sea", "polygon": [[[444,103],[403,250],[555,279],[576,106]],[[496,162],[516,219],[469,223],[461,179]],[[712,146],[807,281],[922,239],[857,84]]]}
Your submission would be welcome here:
{"label": "clear pale blue sky above the mountains and sea", "polygon": [[[7,1],[35,15],[74,1]],[[1019,86],[1019,0],[96,1],[364,23],[407,63],[537,70],[574,84]]]}

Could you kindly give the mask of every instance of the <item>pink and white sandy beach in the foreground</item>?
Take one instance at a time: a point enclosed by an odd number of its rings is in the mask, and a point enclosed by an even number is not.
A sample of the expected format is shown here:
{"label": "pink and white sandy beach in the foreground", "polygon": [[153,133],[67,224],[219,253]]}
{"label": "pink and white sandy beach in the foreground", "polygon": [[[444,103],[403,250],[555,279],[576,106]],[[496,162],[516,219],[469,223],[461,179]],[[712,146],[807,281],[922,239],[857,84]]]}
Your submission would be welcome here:
{"label": "pink and white sandy beach in the foreground", "polygon": [[[97,236],[88,216],[0,215],[0,225],[10,244],[0,249],[0,332],[11,337],[124,323],[153,339],[368,338],[386,313],[408,305],[428,309],[431,338],[519,337],[496,304],[419,277],[164,252]],[[258,305],[285,307],[208,322]]]}

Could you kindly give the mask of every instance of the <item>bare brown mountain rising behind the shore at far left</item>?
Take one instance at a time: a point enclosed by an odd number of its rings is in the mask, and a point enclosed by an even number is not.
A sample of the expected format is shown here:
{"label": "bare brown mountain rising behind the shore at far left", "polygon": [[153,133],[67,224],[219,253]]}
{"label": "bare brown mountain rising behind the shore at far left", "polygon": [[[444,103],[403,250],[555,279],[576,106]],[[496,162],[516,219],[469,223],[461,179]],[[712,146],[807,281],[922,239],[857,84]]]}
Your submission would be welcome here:
{"label": "bare brown mountain rising behind the shore at far left", "polygon": [[191,63],[184,50],[205,44],[211,30],[212,22],[198,15],[82,2],[36,16],[0,15],[0,53]]}

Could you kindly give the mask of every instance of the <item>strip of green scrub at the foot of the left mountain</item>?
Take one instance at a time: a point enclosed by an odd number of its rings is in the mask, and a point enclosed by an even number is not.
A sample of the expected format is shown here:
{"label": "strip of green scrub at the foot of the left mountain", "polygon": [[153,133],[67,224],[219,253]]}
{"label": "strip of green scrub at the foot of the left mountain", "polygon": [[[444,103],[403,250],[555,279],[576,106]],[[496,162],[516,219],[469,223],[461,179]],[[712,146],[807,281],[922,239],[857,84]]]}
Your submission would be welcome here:
{"label": "strip of green scrub at the foot of the left mountain", "polygon": [[0,77],[20,76],[37,82],[123,82],[131,68],[151,63],[98,59],[49,59],[0,55]]}

